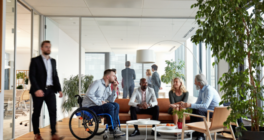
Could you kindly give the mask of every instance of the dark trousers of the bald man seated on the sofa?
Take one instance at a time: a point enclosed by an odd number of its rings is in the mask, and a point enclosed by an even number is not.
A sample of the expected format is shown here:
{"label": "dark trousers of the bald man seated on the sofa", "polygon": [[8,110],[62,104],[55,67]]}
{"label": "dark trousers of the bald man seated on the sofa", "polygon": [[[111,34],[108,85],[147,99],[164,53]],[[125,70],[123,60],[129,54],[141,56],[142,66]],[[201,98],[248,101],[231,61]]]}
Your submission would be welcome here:
{"label": "dark trousers of the bald man seated on the sofa", "polygon": [[[139,107],[130,106],[130,117],[131,120],[138,120],[137,114],[148,114],[152,116],[153,120],[158,120],[159,115],[159,107],[155,105],[154,107],[150,107],[147,109],[140,109]],[[134,125],[136,130],[139,130],[138,125]],[[155,127],[155,125],[152,125]]]}

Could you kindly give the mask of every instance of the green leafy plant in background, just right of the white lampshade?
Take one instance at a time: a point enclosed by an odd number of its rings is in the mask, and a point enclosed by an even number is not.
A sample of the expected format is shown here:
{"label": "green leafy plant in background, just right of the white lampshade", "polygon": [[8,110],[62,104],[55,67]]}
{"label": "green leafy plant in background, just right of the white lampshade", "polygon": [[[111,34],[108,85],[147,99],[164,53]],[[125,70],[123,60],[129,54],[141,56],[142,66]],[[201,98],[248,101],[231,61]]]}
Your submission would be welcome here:
{"label": "green leafy plant in background, just right of the white lampshade", "polygon": [[177,62],[171,61],[165,61],[167,64],[167,67],[165,67],[165,74],[161,75],[161,81],[164,83],[171,83],[171,86],[173,86],[173,79],[175,77],[181,77],[183,80],[185,80],[184,74],[182,74],[180,71],[177,70],[182,70],[185,66],[184,61],[180,60],[180,63],[177,64]]}

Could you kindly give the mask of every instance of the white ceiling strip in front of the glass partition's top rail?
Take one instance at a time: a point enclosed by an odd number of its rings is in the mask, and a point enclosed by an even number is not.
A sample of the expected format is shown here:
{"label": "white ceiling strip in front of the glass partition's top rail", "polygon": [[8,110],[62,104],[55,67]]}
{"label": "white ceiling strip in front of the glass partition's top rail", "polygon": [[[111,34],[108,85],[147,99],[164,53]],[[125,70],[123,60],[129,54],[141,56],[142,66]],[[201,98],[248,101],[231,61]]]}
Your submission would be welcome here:
{"label": "white ceiling strip in front of the glass partition's top rail", "polygon": [[44,15],[194,17],[196,1],[25,0]]}

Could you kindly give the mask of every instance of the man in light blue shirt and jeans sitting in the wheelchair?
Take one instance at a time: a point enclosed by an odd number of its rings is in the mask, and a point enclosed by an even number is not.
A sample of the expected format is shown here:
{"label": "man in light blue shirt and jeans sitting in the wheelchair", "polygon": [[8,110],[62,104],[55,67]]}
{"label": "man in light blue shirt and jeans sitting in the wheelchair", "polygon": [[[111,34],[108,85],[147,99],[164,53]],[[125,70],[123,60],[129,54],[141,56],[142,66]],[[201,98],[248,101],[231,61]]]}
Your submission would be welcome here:
{"label": "man in light blue shirt and jeans sitting in the wheelchair", "polygon": [[[115,103],[117,82],[115,81],[115,71],[108,69],[104,72],[104,77],[100,80],[95,80],[89,86],[86,94],[84,95],[82,106],[89,107],[95,111],[96,114],[109,114],[113,119],[114,130],[109,127],[110,134],[124,135],[117,127],[119,104]],[[109,84],[113,84],[113,91]],[[107,103],[105,100],[108,100]],[[111,119],[107,116],[107,124],[111,125]]]}

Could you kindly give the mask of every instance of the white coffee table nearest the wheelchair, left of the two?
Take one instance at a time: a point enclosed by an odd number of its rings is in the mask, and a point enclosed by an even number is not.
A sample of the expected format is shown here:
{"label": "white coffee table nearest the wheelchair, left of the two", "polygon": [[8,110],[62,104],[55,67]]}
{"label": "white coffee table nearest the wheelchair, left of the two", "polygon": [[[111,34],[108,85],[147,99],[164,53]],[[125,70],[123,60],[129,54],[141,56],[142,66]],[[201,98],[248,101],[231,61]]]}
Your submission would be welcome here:
{"label": "white coffee table nearest the wheelchair, left of the two", "polygon": [[147,139],[147,125],[155,125],[155,128],[154,127],[153,128],[154,128],[154,131],[155,131],[154,136],[155,136],[155,140],[156,140],[157,139],[157,131],[156,131],[156,128],[157,128],[157,124],[159,124],[159,123],[160,123],[160,121],[154,121],[154,120],[149,120],[145,124],[139,123],[137,120],[127,121],[126,122],[126,140],[128,140],[128,124],[133,124],[133,125],[146,125],[146,139]]}

